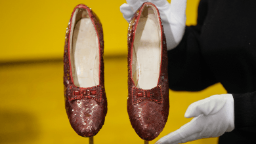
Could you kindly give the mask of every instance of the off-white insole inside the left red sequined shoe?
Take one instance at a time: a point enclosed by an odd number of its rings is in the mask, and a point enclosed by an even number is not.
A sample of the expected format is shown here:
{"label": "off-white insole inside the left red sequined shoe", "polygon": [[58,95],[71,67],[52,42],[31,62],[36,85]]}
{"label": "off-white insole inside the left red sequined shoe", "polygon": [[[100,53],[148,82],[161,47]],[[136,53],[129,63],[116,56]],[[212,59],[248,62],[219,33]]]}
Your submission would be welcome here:
{"label": "off-white insole inside the left red sequined shoe", "polygon": [[82,18],[75,24],[72,50],[75,86],[87,88],[98,85],[98,37],[90,18]]}

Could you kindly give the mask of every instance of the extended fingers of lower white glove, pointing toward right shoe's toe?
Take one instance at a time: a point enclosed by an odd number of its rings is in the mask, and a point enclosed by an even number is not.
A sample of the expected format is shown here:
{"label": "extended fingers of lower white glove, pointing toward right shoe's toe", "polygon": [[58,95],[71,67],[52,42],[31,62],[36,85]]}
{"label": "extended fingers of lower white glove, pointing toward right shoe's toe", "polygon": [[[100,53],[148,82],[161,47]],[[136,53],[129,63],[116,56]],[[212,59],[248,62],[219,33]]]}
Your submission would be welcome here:
{"label": "extended fingers of lower white glove, pointing toward right shoe's toe", "polygon": [[[200,115],[200,117],[203,116]],[[198,133],[202,131],[200,117],[193,118],[190,122],[181,126],[179,130],[171,132],[159,139],[157,143],[177,143],[177,141],[182,141],[182,139],[186,139],[187,137],[193,137],[192,135],[199,135]]]}

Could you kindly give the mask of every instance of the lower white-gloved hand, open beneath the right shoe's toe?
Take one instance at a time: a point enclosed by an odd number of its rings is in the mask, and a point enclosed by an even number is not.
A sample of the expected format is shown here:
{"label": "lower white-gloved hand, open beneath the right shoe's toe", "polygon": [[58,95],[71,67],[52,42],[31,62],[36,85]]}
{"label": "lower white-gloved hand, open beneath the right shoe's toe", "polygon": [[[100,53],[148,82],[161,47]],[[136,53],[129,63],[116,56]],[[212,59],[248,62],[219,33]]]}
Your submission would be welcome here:
{"label": "lower white-gloved hand, open beneath the right shoe's toe", "polygon": [[215,95],[192,103],[186,118],[195,117],[179,130],[165,135],[156,143],[186,143],[207,137],[219,137],[234,130],[234,99],[232,94]]}

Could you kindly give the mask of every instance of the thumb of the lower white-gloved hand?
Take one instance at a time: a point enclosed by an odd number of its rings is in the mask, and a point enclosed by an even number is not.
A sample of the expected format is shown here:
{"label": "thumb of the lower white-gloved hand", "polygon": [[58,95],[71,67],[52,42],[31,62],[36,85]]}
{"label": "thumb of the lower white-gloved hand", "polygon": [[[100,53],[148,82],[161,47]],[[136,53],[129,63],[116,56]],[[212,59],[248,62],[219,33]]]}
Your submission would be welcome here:
{"label": "thumb of the lower white-gloved hand", "polygon": [[224,104],[226,103],[225,99],[222,99],[220,96],[215,95],[209,98],[196,101],[188,106],[186,110],[185,117],[198,117],[199,115],[213,115],[220,111]]}

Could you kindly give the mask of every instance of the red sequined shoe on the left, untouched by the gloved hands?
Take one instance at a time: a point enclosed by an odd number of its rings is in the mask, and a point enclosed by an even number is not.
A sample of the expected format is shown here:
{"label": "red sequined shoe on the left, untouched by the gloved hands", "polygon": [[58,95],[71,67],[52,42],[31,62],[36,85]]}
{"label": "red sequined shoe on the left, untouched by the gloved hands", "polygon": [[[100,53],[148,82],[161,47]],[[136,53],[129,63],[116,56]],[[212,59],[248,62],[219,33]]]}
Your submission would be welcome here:
{"label": "red sequined shoe on the left, untouched by the gloved hands", "polygon": [[86,5],[77,5],[66,31],[64,98],[70,124],[83,137],[96,135],[107,113],[103,50],[100,20]]}

